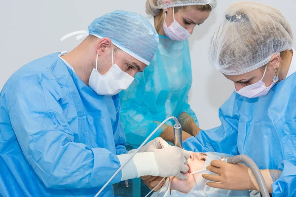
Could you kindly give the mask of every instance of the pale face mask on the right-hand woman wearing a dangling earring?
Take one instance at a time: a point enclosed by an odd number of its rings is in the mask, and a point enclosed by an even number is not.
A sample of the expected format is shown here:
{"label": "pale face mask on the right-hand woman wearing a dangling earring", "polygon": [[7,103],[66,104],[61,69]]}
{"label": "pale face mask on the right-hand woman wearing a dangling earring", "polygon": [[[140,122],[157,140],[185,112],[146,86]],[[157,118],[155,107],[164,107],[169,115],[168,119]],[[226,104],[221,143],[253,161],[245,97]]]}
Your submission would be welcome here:
{"label": "pale face mask on the right-hand woman wearing a dangling earring", "polygon": [[269,86],[269,87],[266,87],[265,84],[263,83],[262,79],[266,73],[266,69],[267,69],[267,66],[265,67],[265,71],[263,73],[263,76],[261,78],[260,81],[252,84],[252,85],[249,85],[249,86],[246,86],[246,87],[243,87],[242,89],[240,89],[239,91],[236,91],[237,94],[241,95],[241,96],[244,96],[244,97],[247,97],[247,98],[256,98],[256,97],[261,97],[261,96],[264,96],[266,95],[269,90],[276,84],[276,82],[278,82],[279,78],[277,76],[277,71],[276,71],[276,74],[273,78],[273,82],[272,84]]}

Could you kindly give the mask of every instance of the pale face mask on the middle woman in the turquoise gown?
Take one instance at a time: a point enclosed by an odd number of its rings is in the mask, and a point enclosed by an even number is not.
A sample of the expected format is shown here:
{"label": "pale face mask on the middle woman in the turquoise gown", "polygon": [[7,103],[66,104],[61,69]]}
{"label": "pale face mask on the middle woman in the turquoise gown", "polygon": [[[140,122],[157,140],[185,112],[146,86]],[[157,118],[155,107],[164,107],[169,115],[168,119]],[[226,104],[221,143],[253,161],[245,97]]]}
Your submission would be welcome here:
{"label": "pale face mask on the middle woman in the turquoise gown", "polygon": [[185,40],[187,39],[191,34],[182,27],[177,21],[175,21],[175,11],[173,7],[173,17],[174,22],[170,25],[170,27],[167,27],[167,24],[165,22],[166,14],[164,15],[164,21],[163,21],[163,30],[164,33],[171,38],[172,40]]}

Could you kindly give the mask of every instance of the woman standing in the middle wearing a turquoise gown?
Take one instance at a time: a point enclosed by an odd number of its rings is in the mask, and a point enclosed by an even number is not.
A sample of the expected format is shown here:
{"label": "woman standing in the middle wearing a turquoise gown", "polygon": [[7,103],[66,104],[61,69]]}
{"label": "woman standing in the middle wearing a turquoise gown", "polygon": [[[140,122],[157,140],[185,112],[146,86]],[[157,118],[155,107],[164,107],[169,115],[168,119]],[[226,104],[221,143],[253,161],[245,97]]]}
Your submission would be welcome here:
{"label": "woman standing in the middle wearing a turquoise gown", "polygon": [[[159,122],[170,116],[181,122],[186,131],[183,138],[199,131],[188,104],[192,76],[187,38],[216,5],[217,0],[147,0],[146,12],[154,16],[160,43],[149,67],[120,93],[121,123],[128,144],[139,146]],[[172,124],[168,122],[151,139],[161,136],[173,142]]]}

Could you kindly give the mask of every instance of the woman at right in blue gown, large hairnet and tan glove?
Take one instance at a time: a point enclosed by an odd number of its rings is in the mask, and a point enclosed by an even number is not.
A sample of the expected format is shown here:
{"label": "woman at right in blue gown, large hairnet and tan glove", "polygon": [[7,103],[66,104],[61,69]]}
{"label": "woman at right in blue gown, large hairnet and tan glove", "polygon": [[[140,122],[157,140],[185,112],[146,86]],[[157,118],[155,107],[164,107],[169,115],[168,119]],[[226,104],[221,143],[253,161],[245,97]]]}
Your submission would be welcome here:
{"label": "woman at right in blue gown, large hairnet and tan glove", "polygon": [[[185,140],[194,152],[247,155],[261,169],[273,197],[296,196],[296,51],[289,22],[274,7],[236,2],[223,15],[210,46],[210,63],[234,82],[222,105],[222,125]],[[209,186],[259,190],[244,164],[216,160]]]}

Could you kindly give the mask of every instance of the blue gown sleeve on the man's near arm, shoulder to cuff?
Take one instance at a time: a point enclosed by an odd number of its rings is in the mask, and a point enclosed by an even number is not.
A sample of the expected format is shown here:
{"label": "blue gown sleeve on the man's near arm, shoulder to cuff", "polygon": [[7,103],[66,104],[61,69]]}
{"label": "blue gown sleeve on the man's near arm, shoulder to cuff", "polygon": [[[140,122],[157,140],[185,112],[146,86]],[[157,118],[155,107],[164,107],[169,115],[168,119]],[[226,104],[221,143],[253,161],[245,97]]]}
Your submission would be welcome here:
{"label": "blue gown sleeve on the man's near arm, shoulder to cuff", "polygon": [[[120,167],[118,157],[107,149],[74,142],[59,104],[63,98],[52,91],[58,89],[57,82],[46,80],[44,85],[39,76],[29,78],[11,85],[7,109],[23,154],[38,177],[47,188],[102,187]],[[120,180],[121,172],[110,184]]]}

